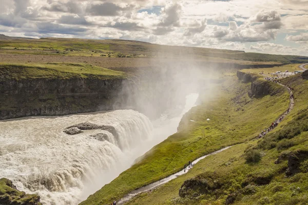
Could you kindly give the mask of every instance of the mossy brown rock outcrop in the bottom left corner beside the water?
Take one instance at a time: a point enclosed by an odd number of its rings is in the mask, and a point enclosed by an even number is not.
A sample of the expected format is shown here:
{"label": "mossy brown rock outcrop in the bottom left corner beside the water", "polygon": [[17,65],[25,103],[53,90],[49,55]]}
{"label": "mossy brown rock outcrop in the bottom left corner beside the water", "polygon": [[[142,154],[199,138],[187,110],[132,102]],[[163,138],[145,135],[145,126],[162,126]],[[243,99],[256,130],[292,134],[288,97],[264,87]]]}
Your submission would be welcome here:
{"label": "mossy brown rock outcrop in the bottom left corner beside the water", "polygon": [[9,179],[0,179],[0,204],[10,205],[42,205],[40,196],[18,191]]}

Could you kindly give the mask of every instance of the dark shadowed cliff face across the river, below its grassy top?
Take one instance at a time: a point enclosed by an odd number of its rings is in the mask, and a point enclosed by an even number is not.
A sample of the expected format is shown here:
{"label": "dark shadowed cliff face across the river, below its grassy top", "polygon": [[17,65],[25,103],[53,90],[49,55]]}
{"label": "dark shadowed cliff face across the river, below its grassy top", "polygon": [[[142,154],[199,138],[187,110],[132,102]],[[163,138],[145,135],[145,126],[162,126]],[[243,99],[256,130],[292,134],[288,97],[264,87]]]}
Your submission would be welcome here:
{"label": "dark shadowed cliff face across the river, below its grassy top", "polygon": [[[21,79],[0,81],[0,119],[66,115],[122,107],[125,79]],[[119,96],[122,94],[122,96]]]}

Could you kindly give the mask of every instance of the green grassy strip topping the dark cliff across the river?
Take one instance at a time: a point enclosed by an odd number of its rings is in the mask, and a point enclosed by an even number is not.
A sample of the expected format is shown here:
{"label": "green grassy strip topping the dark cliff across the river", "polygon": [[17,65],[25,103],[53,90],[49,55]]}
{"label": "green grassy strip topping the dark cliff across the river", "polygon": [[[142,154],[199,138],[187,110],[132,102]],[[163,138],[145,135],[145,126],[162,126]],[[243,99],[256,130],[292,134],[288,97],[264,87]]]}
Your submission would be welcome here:
{"label": "green grassy strip topping the dark cliff across the river", "polygon": [[4,64],[0,63],[0,79],[24,78],[125,78],[126,74],[88,64]]}

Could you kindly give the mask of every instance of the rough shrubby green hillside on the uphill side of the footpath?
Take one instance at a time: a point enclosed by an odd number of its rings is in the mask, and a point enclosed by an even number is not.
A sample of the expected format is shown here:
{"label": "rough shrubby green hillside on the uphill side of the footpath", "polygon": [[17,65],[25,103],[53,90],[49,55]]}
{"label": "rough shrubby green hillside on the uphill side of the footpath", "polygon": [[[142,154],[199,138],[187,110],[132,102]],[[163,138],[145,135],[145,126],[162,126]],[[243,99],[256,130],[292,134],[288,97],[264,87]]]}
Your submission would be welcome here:
{"label": "rough shrubby green hillside on the uphill side of the footpath", "polygon": [[[188,174],[170,181],[155,191],[144,193],[128,204],[224,204],[227,196],[235,193],[237,193],[235,204],[307,204],[308,156],[306,155],[301,161],[300,173],[291,177],[285,177],[284,173],[287,160],[282,160],[278,165],[274,161],[282,153],[308,151],[308,80],[296,75],[282,81],[295,89],[294,110],[281,122],[278,129],[259,140],[258,145],[257,141],[253,140],[207,157]],[[297,129],[301,133],[292,134],[292,130]],[[287,137],[289,139],[277,138],[285,136],[283,133],[288,133],[288,130],[291,130],[291,134]],[[292,142],[293,146],[283,147],[285,141]],[[272,147],[266,148],[269,145]],[[249,148],[261,153],[263,157],[259,162],[246,163],[244,152]],[[179,189],[185,180],[194,178],[209,181],[209,176],[213,174],[223,185],[222,188],[198,197],[179,197]],[[270,182],[260,185],[256,179],[263,181],[268,179]]]}

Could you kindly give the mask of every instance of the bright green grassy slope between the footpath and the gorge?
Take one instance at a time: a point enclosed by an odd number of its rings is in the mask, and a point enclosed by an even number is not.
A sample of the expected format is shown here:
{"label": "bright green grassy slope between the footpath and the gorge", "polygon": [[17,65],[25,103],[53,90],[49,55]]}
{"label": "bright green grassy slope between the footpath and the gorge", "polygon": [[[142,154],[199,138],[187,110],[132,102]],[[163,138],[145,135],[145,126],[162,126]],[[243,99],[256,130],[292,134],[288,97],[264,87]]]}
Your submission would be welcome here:
{"label": "bright green grassy slope between the footpath and the gorge", "polygon": [[[196,120],[188,130],[176,133],[152,148],[144,158],[81,204],[107,204],[138,187],[168,176],[189,160],[228,145],[254,138],[276,119],[288,105],[288,95],[280,89],[275,96],[250,99],[250,84],[238,83],[235,76],[220,85],[216,96],[193,108],[186,120]],[[266,106],[264,106],[266,105]],[[238,111],[237,111],[238,110]],[[254,118],[252,117],[254,116]],[[206,119],[211,119],[207,121]],[[205,136],[202,136],[204,130]]]}

